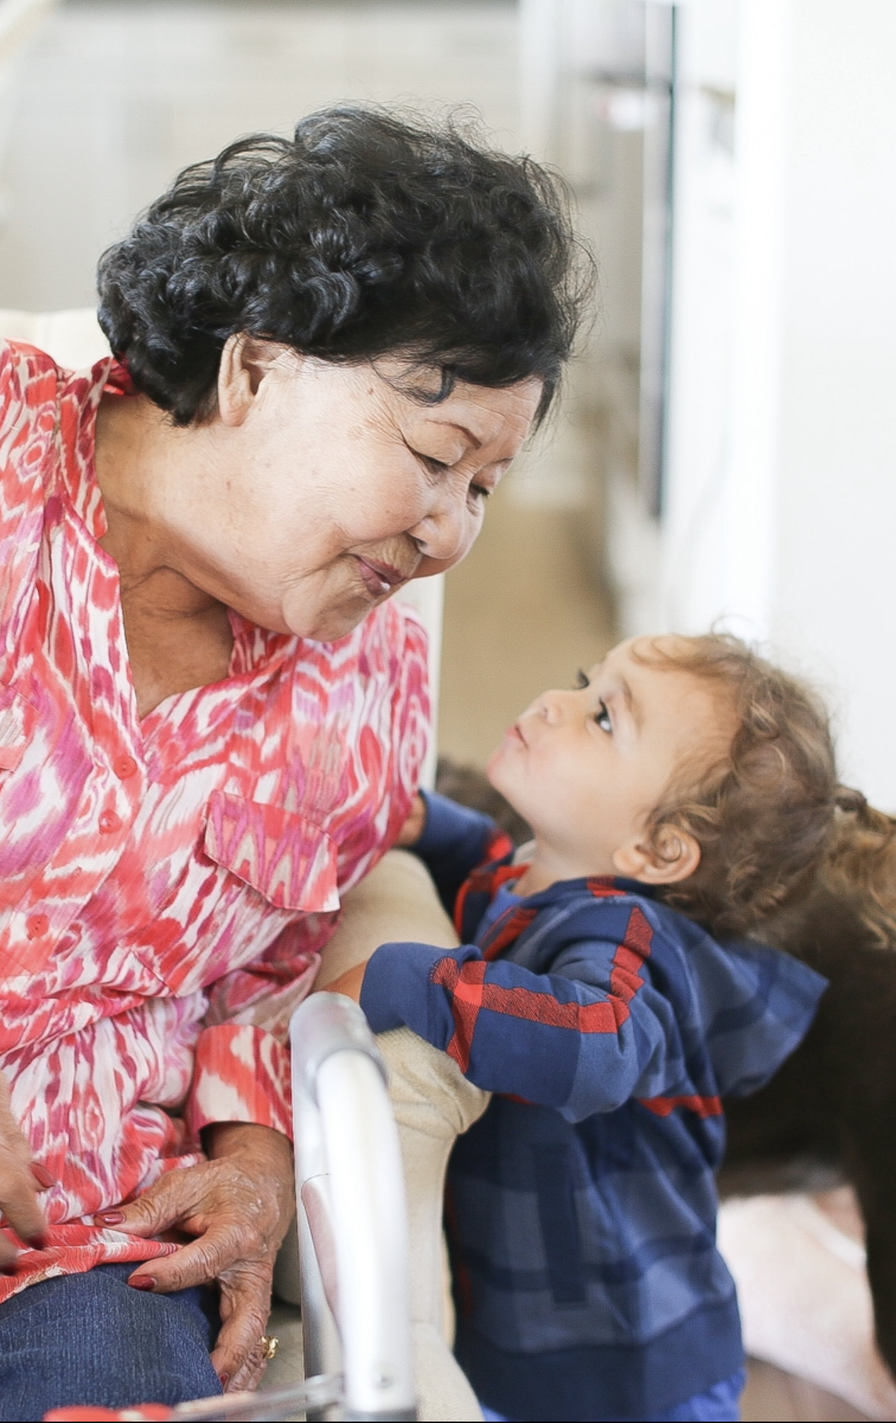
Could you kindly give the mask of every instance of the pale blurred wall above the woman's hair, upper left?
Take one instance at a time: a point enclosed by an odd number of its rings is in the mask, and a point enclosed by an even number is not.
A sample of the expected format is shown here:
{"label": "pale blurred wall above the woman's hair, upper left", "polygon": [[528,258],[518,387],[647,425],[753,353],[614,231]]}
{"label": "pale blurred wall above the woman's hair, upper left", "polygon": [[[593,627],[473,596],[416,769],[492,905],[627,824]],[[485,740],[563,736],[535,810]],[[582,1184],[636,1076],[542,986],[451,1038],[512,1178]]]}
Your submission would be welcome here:
{"label": "pale blurred wall above the woman's hair, upper left", "polygon": [[[4,7],[26,3],[50,0],[0,0],[0,46]],[[0,306],[94,302],[97,258],[179,168],[323,104],[472,104],[514,149],[514,41],[511,0],[58,4],[0,169]]]}

